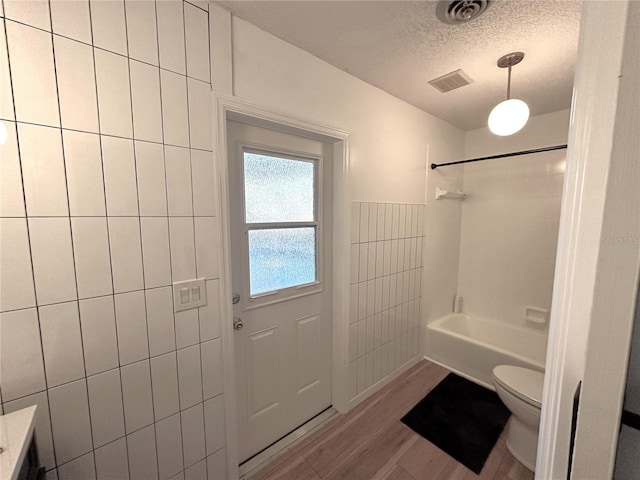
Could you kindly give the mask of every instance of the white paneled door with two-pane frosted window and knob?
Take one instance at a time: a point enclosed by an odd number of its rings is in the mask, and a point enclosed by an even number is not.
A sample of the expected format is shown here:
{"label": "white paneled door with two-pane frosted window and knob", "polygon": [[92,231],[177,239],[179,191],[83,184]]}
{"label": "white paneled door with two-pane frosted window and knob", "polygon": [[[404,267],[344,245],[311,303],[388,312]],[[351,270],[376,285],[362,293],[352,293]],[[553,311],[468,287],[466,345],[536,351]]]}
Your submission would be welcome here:
{"label": "white paneled door with two-pane frosted window and knob", "polygon": [[229,122],[227,145],[242,463],[331,405],[331,177],[315,140]]}

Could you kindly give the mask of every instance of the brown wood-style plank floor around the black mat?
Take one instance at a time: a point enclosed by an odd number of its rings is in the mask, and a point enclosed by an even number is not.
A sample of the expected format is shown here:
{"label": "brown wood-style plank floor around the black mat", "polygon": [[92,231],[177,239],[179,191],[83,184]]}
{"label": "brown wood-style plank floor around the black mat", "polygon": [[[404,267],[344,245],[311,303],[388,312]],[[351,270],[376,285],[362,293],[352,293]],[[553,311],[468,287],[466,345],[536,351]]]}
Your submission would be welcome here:
{"label": "brown wood-style plank floor around the black mat", "polygon": [[447,373],[418,363],[250,480],[533,480],[507,450],[506,429],[476,475],[400,422]]}

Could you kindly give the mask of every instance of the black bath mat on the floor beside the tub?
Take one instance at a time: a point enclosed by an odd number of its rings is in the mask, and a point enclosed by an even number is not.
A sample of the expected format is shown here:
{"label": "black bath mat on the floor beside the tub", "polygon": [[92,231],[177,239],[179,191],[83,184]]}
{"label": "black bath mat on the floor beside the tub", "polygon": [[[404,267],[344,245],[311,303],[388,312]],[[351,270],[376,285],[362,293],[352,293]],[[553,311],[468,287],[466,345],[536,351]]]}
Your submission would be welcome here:
{"label": "black bath mat on the floor beside the tub", "polygon": [[509,415],[497,393],[450,373],[402,423],[480,473]]}

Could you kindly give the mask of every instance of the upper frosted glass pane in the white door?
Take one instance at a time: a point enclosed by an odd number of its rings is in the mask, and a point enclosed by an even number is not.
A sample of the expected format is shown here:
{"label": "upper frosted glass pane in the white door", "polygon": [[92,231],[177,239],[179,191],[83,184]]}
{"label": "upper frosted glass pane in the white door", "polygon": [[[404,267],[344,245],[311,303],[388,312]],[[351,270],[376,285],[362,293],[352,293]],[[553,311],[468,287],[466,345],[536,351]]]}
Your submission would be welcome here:
{"label": "upper frosted glass pane in the white door", "polygon": [[246,223],[315,219],[315,162],[244,152]]}

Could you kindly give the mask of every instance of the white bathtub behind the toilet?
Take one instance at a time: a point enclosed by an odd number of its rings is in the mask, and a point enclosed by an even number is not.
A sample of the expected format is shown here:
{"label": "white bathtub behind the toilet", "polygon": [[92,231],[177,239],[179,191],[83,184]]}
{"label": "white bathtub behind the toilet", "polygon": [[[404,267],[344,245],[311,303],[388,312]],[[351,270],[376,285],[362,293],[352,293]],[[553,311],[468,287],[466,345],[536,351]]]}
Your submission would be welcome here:
{"label": "white bathtub behind the toilet", "polygon": [[426,358],[493,389],[497,365],[544,371],[547,335],[535,331],[450,314],[427,325]]}

